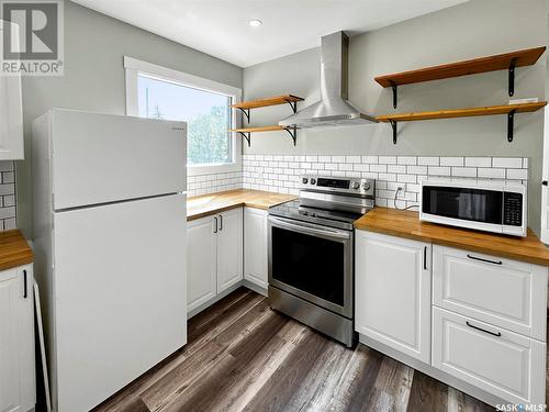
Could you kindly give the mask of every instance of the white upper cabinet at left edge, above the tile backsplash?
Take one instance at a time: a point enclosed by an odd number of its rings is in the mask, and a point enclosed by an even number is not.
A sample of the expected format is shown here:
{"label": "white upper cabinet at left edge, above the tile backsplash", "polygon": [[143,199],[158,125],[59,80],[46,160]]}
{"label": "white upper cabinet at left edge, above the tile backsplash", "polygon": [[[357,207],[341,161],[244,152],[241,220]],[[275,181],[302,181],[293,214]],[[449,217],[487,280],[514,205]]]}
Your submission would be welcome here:
{"label": "white upper cabinet at left edge, above the tile backsplash", "polygon": [[[0,31],[8,30],[0,21]],[[3,33],[1,34],[3,37]],[[16,41],[16,38],[15,38]],[[0,160],[24,159],[21,77],[0,76]]]}

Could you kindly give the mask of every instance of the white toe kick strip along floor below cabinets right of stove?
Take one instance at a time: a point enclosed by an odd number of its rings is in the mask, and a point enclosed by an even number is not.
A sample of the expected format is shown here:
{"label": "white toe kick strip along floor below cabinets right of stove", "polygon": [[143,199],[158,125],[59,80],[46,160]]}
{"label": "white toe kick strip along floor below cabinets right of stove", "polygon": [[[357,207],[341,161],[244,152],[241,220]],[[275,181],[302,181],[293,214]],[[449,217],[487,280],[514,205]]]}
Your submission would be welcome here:
{"label": "white toe kick strip along floor below cabinets right of stove", "polygon": [[509,404],[511,402],[501,399],[492,393],[485,392],[471,383],[464,382],[461,379],[458,379],[451,375],[448,375],[430,365],[424,364],[421,360],[417,360],[408,355],[404,355],[400,353],[399,350],[393,349],[392,347],[389,347],[382,343],[379,343],[368,336],[365,336],[362,334],[359,334],[359,342],[362,345],[366,345],[368,347],[371,347],[372,349],[376,349],[378,352],[381,352],[382,354],[399,360],[400,363],[410,366],[411,368],[414,368],[416,370],[419,370],[421,372],[428,375],[452,388],[456,388],[460,390],[461,392],[464,392],[467,394],[470,394],[473,398],[477,398],[481,400],[484,403],[488,403],[492,407],[495,405],[502,405],[502,404]]}

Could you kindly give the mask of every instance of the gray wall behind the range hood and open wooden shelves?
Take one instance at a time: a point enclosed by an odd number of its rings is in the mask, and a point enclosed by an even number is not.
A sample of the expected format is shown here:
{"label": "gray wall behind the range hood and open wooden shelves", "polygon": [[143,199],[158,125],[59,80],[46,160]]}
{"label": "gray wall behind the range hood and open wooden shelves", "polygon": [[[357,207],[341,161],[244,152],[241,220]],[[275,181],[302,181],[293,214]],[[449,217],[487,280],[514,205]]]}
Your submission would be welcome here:
{"label": "gray wall behind the range hood and open wooden shelves", "polygon": [[[345,29],[345,27],[341,27]],[[516,0],[471,0],[439,12],[351,37],[349,100],[366,113],[395,112],[390,89],[376,76],[546,44],[545,0],[528,7]],[[296,93],[301,107],[318,99],[318,48],[301,52],[244,70],[245,98]],[[516,71],[515,97],[545,98],[546,59]],[[404,86],[396,112],[426,111],[508,101],[507,73]],[[253,111],[255,125],[276,124],[290,114],[285,107]],[[253,136],[247,154],[361,154],[440,156],[524,156],[530,158],[529,225],[539,231],[542,112],[515,118],[515,141],[506,140],[506,118],[437,120],[399,125],[392,144],[388,124],[299,131],[298,147],[285,133]]]}

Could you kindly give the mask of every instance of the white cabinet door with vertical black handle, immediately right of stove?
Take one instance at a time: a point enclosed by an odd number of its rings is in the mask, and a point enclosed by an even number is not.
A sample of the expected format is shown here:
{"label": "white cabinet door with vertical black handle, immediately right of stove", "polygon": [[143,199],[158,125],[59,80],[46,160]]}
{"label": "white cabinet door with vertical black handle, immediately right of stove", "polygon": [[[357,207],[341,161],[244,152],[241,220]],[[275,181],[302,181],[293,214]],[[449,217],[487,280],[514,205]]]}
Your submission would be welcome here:
{"label": "white cabinet door with vertical black handle, immediately right of stove", "polygon": [[430,244],[357,231],[357,332],[427,364],[430,256]]}

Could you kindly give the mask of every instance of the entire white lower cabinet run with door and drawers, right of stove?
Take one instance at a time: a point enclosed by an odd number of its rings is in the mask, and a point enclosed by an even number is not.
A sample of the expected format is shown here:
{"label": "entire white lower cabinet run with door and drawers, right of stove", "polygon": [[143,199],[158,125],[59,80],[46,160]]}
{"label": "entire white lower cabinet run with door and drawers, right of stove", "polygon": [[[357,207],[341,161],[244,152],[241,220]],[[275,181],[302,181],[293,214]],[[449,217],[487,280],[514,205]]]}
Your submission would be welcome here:
{"label": "entire white lower cabinet run with door and drawers, right of stove", "polygon": [[362,344],[494,407],[545,405],[547,267],[361,230],[356,240]]}

